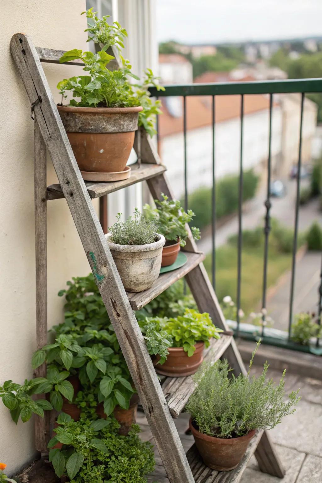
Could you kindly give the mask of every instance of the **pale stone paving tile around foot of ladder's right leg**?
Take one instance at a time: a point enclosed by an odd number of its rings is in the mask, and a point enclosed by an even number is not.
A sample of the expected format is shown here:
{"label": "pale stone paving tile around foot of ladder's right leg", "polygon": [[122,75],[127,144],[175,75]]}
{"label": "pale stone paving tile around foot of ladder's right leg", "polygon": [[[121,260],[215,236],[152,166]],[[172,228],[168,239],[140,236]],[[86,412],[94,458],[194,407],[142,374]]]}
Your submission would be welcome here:
{"label": "pale stone paving tile around foot of ladder's right leg", "polygon": [[305,459],[305,453],[286,448],[285,446],[275,445],[275,449],[280,456],[285,476],[282,480],[275,476],[262,473],[258,468],[255,456],[252,456],[248,467],[240,480],[240,483],[295,483],[297,475]]}

